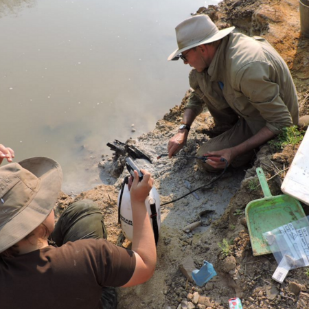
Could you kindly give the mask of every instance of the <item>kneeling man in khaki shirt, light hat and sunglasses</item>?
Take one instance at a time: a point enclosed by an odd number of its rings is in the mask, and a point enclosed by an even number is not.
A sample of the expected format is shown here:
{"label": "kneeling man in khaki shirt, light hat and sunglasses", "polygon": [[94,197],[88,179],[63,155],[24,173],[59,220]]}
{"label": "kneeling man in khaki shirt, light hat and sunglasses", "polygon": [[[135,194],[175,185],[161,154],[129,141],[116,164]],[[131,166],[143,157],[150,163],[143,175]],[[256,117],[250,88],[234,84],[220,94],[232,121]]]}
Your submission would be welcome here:
{"label": "kneeling man in khaki shirt, light hat and sunglasses", "polygon": [[299,121],[297,91],[282,57],[264,38],[234,28],[218,30],[209,16],[192,16],[176,26],[179,48],[168,57],[194,68],[189,76],[193,91],[168,154],[183,148],[205,104],[217,135],[198,150],[198,156],[210,156],[205,163],[198,160],[202,170],[225,168],[214,157],[234,167],[248,163],[255,148]]}

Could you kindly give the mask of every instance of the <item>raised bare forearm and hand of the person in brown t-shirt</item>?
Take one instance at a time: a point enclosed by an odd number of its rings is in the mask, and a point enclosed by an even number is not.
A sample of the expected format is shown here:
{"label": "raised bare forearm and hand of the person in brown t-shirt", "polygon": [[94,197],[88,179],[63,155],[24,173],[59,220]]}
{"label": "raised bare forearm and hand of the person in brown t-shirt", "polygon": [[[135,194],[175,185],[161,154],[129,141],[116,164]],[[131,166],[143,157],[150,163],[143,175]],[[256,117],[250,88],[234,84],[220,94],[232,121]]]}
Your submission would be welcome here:
{"label": "raised bare forearm and hand of the person in brown t-shirt", "polygon": [[136,286],[150,279],[155,272],[157,251],[155,236],[150,224],[150,218],[145,205],[153,179],[146,170],[141,170],[144,177],[139,181],[137,171],[134,171],[134,181],[130,187],[131,205],[133,213],[132,250],[135,252],[136,265],[133,276],[123,287]]}

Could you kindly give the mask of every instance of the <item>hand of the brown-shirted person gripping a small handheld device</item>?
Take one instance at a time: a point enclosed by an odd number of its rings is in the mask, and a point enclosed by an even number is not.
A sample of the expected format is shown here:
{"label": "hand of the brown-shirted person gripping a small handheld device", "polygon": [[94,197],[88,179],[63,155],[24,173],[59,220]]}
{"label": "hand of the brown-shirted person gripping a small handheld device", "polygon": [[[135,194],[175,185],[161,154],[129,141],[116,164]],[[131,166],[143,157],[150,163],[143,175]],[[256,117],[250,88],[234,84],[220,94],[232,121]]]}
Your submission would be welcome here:
{"label": "hand of the brown-shirted person gripping a small handheld device", "polygon": [[134,180],[130,186],[131,202],[133,203],[145,203],[146,197],[152,189],[153,179],[150,177],[150,173],[146,170],[142,170],[144,174],[143,179],[139,181],[139,174],[134,171]]}

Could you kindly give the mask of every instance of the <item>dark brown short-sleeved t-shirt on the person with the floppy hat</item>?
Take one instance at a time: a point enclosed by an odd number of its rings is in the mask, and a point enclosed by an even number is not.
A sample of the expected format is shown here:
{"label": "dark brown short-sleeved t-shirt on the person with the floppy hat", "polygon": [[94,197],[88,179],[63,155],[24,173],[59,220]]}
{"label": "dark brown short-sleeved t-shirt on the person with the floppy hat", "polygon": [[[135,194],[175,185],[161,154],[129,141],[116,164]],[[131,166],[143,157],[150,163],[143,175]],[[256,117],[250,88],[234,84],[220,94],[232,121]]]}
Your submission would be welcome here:
{"label": "dark brown short-sleeved t-shirt on the person with the floppy hat", "polygon": [[123,286],[134,270],[133,251],[104,239],[0,257],[0,308],[98,309],[102,287]]}

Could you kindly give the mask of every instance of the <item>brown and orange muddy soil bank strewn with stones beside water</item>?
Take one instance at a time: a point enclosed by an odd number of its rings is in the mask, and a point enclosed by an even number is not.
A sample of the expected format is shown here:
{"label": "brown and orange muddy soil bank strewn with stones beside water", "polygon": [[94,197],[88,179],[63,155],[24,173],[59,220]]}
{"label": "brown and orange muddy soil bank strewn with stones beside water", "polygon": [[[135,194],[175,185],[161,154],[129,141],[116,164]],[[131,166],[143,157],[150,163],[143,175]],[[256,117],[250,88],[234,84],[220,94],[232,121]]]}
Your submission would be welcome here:
{"label": "brown and orange muddy soil bank strewn with stones beside water", "polygon": [[[200,8],[198,14],[203,13],[209,14],[218,27],[234,25],[245,34],[265,37],[290,67],[299,93],[300,115],[308,114],[309,39],[300,35],[297,0],[227,0],[207,10]],[[213,174],[199,172],[193,160],[156,159],[166,152],[168,139],[176,133],[187,95],[180,106],[172,108],[157,122],[152,132],[126,142],[144,151],[152,160],[152,164],[142,160],[137,163],[152,172],[161,203],[186,194],[187,183],[194,189],[214,179]],[[205,122],[206,117],[207,111],[194,122],[183,149],[185,154],[194,155],[198,146],[209,138],[203,134],[203,130],[211,126],[211,119]],[[250,309],[309,308],[309,277],[305,268],[290,271],[284,284],[273,281],[277,262],[271,254],[253,256],[244,217],[247,203],[264,196],[260,187],[251,185],[252,179],[257,179],[255,169],[262,167],[267,179],[274,176],[268,181],[271,193],[281,194],[285,174],[281,171],[288,168],[296,151],[297,146],[288,145],[282,152],[273,153],[268,145],[263,146],[251,165],[238,170],[229,168],[219,181],[196,192],[198,196],[190,195],[162,207],[155,275],[141,286],[118,289],[118,308],[229,308],[231,297],[240,297],[243,308]],[[100,185],[75,198],[91,198],[98,203],[105,216],[108,240],[118,244],[122,244],[117,225],[117,194],[126,174],[126,170],[122,172],[123,159],[120,156],[102,163],[114,176],[122,173],[115,185]],[[72,201],[73,197],[60,196],[58,213]],[[304,209],[309,214],[306,205]],[[198,220],[201,220],[200,227],[190,233],[183,231]],[[219,246],[224,239],[233,243],[227,254]],[[127,246],[128,242],[123,245]],[[189,256],[196,268],[201,268],[204,260],[214,264],[218,276],[203,288],[187,282],[179,265]]]}

